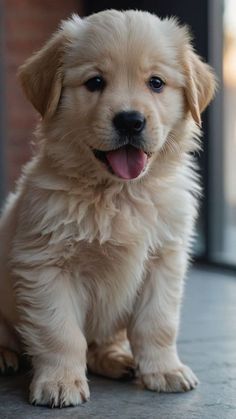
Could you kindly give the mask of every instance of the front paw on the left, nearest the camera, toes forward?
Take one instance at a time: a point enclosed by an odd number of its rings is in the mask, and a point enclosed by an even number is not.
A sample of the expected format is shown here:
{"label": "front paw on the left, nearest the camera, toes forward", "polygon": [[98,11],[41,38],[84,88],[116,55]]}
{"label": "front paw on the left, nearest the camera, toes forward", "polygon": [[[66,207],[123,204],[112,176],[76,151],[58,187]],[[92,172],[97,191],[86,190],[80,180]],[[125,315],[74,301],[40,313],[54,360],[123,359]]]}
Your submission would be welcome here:
{"label": "front paw on the left, nearest the camera, toes forward", "polygon": [[30,402],[50,407],[76,406],[89,399],[85,376],[72,370],[46,369],[35,374],[30,385]]}

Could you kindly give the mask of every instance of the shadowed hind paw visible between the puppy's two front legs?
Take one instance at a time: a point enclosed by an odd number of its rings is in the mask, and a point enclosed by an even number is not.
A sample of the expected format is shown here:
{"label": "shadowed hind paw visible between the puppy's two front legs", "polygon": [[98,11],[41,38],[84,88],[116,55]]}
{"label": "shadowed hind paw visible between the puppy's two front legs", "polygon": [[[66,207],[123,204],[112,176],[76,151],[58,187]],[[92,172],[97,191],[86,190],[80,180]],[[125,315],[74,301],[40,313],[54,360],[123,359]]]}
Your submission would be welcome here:
{"label": "shadowed hind paw visible between the puppy's two front legs", "polygon": [[94,374],[117,379],[134,377],[134,360],[125,332],[118,333],[106,343],[91,344],[87,362]]}

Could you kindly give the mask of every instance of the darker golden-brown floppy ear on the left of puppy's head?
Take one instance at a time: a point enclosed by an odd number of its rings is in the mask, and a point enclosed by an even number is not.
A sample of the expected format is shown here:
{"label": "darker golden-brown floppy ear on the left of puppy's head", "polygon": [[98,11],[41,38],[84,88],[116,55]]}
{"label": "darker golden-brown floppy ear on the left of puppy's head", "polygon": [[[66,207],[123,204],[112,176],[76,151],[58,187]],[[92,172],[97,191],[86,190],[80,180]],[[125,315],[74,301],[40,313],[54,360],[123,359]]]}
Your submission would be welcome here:
{"label": "darker golden-brown floppy ear on the left of puppy's head", "polygon": [[52,116],[59,103],[63,47],[63,35],[58,32],[19,68],[23,90],[43,118]]}

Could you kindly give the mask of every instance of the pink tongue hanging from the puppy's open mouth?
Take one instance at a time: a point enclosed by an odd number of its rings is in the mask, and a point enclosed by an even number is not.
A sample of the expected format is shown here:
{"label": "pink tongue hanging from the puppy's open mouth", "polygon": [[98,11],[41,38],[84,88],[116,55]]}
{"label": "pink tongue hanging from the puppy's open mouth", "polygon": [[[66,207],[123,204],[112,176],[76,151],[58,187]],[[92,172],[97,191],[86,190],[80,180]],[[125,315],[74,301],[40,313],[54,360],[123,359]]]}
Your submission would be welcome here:
{"label": "pink tongue hanging from the puppy's open mouth", "polygon": [[132,146],[108,151],[106,157],[113,172],[122,179],[136,178],[144,169],[147,161],[144,151]]}

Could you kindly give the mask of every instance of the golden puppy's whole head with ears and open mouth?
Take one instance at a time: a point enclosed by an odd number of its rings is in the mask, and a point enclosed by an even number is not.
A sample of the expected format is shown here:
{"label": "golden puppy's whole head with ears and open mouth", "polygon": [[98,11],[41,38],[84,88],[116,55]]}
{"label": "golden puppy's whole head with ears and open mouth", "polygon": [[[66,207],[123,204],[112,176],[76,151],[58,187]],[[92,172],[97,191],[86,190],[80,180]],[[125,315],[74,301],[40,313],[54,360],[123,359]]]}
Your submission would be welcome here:
{"label": "golden puppy's whole head with ears and open mouth", "polygon": [[185,27],[139,11],[73,16],[19,74],[53,158],[121,181],[145,175],[178,124],[200,125],[215,86]]}

